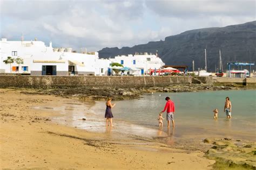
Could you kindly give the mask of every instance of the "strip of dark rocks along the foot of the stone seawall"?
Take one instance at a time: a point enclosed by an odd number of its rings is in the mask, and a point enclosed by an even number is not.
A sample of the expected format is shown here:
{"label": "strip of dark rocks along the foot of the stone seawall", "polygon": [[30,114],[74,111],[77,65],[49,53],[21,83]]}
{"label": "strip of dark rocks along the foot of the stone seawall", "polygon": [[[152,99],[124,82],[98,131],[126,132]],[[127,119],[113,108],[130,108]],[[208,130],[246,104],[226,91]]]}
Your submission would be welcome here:
{"label": "strip of dark rocks along the foot of the stone seawall", "polygon": [[198,91],[220,91],[220,90],[251,90],[249,88],[239,86],[237,84],[172,84],[166,87],[149,87],[149,88],[53,88],[53,89],[34,89],[34,88],[17,88],[9,87],[3,89],[24,90],[22,93],[26,95],[54,95],[66,98],[79,99],[80,101],[105,101],[107,97],[112,100],[132,100],[140,98],[143,94],[151,93],[182,93],[182,92],[198,92]]}

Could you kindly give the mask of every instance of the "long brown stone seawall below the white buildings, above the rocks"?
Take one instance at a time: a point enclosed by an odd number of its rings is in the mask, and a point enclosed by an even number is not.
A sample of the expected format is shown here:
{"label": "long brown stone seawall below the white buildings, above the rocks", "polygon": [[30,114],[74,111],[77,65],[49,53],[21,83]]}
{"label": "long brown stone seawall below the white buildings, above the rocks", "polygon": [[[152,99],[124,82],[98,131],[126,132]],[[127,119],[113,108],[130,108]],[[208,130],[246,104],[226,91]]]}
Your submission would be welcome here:
{"label": "long brown stone seawall below the white buildings, above the rocks", "polygon": [[190,84],[188,76],[13,76],[0,75],[0,87],[25,88],[138,88]]}

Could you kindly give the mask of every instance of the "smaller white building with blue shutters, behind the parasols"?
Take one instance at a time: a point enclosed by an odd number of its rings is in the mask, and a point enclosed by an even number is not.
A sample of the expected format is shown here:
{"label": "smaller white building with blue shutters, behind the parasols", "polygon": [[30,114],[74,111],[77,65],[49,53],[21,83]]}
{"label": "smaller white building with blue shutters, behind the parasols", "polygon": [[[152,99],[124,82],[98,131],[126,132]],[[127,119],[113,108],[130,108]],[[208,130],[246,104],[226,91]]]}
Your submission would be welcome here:
{"label": "smaller white building with blue shutters, behind the parasols", "polygon": [[159,69],[165,65],[165,63],[158,56],[151,53],[115,56],[113,59],[110,59],[110,61],[112,63],[118,62],[124,67],[139,68],[140,74],[149,74],[149,69]]}

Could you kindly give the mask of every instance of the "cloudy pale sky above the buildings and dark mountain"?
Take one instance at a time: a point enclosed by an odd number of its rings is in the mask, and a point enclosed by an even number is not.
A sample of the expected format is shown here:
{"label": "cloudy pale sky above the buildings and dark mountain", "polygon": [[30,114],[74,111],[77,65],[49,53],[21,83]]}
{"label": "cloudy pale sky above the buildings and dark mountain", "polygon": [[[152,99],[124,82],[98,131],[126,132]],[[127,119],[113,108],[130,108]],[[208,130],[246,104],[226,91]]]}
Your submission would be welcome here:
{"label": "cloudy pale sky above the buildings and dark mountain", "polygon": [[0,33],[8,40],[99,51],[164,40],[184,31],[256,20],[252,0],[0,0]]}

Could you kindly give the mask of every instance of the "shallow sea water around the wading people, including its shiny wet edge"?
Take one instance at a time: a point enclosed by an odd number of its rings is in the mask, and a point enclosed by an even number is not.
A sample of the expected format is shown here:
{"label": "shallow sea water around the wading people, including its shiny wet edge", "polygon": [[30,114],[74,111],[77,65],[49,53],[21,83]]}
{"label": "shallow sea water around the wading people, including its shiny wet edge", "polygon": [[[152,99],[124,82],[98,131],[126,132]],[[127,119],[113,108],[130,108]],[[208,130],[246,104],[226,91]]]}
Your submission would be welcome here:
{"label": "shallow sea water around the wading people, including its shiny wet edge", "polygon": [[[165,107],[165,97],[174,102],[175,128],[158,127],[158,115]],[[232,118],[224,112],[225,98],[230,97]],[[153,93],[136,100],[112,101],[113,124],[111,130],[105,126],[105,102],[74,104],[55,108],[62,116],[52,121],[75,126],[92,132],[111,132],[143,137],[172,136],[176,138],[234,138],[255,141],[256,90],[200,91],[191,93]],[[213,109],[218,109],[218,119],[213,119]],[[84,118],[84,120],[83,120]],[[85,120],[86,119],[86,120]],[[172,124],[171,124],[172,125]]]}

